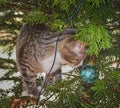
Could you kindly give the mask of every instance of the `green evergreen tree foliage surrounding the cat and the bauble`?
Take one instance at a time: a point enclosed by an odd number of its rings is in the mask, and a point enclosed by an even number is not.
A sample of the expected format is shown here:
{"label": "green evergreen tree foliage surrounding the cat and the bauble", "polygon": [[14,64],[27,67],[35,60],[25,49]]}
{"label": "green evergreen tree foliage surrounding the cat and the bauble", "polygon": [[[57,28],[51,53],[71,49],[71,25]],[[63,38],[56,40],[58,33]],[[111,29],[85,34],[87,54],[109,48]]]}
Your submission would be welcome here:
{"label": "green evergreen tree foliage surrounding the cat and the bauble", "polygon": [[[88,57],[94,56],[100,78],[86,84],[78,69],[66,73],[66,79],[46,88],[39,103],[43,108],[119,108],[120,107],[120,1],[82,0],[81,9],[66,23],[78,7],[79,0],[0,0],[0,84],[11,81],[14,86],[0,88],[0,108],[10,108],[14,98],[21,97],[21,79],[15,60],[16,38],[23,23],[44,23],[52,30],[77,28],[75,39],[88,43]],[[2,70],[0,70],[2,71]],[[38,79],[38,83],[41,79]],[[10,103],[12,102],[12,103]],[[27,104],[28,108],[31,105]],[[26,107],[27,107],[26,106]],[[39,106],[39,105],[38,105]],[[15,107],[12,107],[15,108]]]}

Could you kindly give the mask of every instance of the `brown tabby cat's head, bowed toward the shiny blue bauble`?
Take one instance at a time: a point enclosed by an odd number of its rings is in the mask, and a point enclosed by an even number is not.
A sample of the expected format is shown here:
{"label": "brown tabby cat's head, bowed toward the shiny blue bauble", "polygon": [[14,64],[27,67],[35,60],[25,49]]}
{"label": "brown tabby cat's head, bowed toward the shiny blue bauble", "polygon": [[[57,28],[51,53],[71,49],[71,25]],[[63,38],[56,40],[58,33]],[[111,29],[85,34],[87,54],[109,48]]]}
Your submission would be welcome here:
{"label": "brown tabby cat's head, bowed toward the shiny blue bauble", "polygon": [[86,58],[87,48],[88,45],[86,43],[74,40],[73,37],[69,36],[61,42],[60,52],[65,63],[76,68],[81,66]]}

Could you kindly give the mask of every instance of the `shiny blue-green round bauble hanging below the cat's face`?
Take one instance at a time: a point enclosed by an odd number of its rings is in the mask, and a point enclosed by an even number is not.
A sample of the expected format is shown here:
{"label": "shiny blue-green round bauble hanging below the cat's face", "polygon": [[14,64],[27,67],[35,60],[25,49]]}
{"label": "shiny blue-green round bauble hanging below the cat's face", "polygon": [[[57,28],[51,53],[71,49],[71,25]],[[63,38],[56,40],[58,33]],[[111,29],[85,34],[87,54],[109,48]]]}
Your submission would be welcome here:
{"label": "shiny blue-green round bauble hanging below the cat's face", "polygon": [[99,78],[99,74],[94,65],[86,65],[80,71],[80,77],[86,83],[93,83]]}

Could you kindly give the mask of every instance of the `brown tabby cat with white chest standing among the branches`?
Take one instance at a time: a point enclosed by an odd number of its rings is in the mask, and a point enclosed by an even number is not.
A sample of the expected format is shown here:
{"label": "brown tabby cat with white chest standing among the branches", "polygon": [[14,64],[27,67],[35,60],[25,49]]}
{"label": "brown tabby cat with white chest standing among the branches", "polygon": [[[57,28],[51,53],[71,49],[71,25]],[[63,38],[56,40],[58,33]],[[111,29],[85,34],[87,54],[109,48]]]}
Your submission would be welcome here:
{"label": "brown tabby cat with white chest standing among the branches", "polygon": [[60,34],[43,24],[33,26],[25,24],[22,27],[16,44],[17,67],[23,81],[22,95],[33,95],[35,97],[39,95],[36,75],[38,72],[45,72],[46,74],[49,72],[55,55],[58,35],[60,37],[51,76],[60,79],[60,68],[64,64],[73,68],[82,65],[86,57],[87,45],[74,40],[75,32],[74,29],[65,29]]}

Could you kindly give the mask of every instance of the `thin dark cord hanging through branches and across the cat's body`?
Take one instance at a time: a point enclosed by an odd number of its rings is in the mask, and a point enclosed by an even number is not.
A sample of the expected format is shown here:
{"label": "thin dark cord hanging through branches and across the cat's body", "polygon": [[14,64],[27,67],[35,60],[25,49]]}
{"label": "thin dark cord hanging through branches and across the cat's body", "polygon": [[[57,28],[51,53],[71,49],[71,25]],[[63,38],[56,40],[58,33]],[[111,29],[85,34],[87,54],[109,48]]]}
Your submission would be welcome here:
{"label": "thin dark cord hanging through branches and across the cat's body", "polygon": [[[82,0],[79,0],[78,7],[77,7],[76,11],[74,12],[74,14],[73,14],[72,16],[70,16],[70,17],[65,21],[66,23],[69,23],[70,20],[71,20],[75,15],[77,15],[77,13],[79,12],[79,10],[80,10],[80,8],[81,8],[81,4],[82,4]],[[51,66],[51,68],[50,68],[47,76],[45,77],[44,83],[43,83],[42,86],[41,86],[41,90],[40,90],[40,92],[39,92],[39,96],[38,96],[37,103],[36,103],[36,108],[39,108],[38,104],[39,104],[40,96],[41,96],[42,91],[43,91],[43,89],[45,88],[45,86],[46,86],[46,84],[47,84],[47,82],[48,82],[48,77],[49,77],[49,75],[50,75],[50,73],[51,73],[51,71],[52,71],[52,69],[53,69],[53,67],[54,67],[54,64],[55,64],[56,55],[57,55],[57,46],[58,46],[58,42],[59,42],[59,37],[60,37],[60,35],[61,35],[61,33],[57,36],[57,39],[55,40],[56,45],[55,45],[55,54],[54,54],[53,63],[52,63],[52,66]],[[51,42],[49,42],[49,43],[51,43]],[[49,43],[48,43],[48,44],[49,44]]]}

